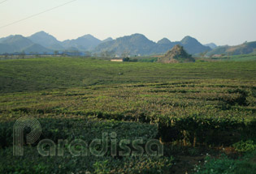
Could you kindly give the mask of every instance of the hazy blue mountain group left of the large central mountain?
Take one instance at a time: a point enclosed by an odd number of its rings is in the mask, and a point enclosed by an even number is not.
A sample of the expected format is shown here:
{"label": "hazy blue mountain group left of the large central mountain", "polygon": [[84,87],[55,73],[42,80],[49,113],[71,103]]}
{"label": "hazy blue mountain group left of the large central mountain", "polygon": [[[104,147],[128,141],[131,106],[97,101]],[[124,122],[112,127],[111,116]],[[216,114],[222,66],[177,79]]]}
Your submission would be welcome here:
{"label": "hazy blue mountain group left of the large central mountain", "polygon": [[[104,42],[111,41],[109,37]],[[32,36],[24,37],[20,35],[0,38],[0,53],[53,53],[56,51],[84,52],[94,49],[103,42],[91,35],[85,35],[76,40],[64,40],[60,42],[54,36],[46,32],[37,32]]]}

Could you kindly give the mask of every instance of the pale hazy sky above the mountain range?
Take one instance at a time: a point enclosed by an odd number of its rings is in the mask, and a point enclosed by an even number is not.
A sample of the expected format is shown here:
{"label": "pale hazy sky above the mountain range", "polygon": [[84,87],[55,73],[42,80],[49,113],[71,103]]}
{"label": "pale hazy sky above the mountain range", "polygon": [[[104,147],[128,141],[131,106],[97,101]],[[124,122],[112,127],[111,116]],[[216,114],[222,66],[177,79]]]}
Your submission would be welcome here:
{"label": "pale hazy sky above the mountain range", "polygon": [[[202,44],[238,45],[256,40],[256,0],[0,0],[0,37],[45,31],[58,40],[92,34],[106,37],[141,33],[150,40],[193,36]],[[2,3],[1,3],[2,2]]]}

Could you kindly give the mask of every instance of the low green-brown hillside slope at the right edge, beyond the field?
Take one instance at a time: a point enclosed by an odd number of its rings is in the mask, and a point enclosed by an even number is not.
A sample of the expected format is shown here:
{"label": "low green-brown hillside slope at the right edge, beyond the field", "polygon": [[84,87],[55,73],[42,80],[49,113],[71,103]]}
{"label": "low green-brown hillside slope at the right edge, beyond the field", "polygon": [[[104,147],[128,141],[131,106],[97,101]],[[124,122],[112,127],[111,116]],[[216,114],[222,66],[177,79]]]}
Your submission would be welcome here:
{"label": "low green-brown hillside slope at the right edge, beyond the field", "polygon": [[223,55],[241,55],[248,53],[256,53],[256,41],[254,42],[245,42],[242,45],[236,46],[219,46],[210,52],[206,53],[206,56],[214,56],[215,54],[223,54]]}

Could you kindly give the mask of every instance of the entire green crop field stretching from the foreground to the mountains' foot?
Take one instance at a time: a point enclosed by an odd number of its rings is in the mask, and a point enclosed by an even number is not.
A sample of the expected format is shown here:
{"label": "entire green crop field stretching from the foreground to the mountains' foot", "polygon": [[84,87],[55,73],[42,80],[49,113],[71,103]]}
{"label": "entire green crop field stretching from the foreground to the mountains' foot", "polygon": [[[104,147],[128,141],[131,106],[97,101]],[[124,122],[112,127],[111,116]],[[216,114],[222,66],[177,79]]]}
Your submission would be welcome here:
{"label": "entire green crop field stretching from the foreground to the mountains' foot", "polygon": [[[0,61],[0,74],[0,173],[190,173],[194,168],[253,173],[256,168],[254,61],[162,64],[48,57]],[[141,138],[145,146],[158,139],[164,153],[42,157],[37,142],[16,157],[13,125],[24,116],[40,121],[40,140],[92,142],[115,132],[117,142]],[[234,152],[219,158],[226,149]],[[198,163],[204,158],[210,162]]]}

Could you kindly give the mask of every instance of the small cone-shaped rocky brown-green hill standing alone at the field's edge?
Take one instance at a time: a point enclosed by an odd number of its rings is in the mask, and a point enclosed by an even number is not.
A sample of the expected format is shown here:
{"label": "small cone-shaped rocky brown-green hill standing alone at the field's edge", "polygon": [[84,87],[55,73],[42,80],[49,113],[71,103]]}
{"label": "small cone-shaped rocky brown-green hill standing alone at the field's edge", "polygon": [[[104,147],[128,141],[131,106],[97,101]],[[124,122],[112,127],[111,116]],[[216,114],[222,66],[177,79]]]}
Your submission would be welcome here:
{"label": "small cone-shaped rocky brown-green hill standing alone at the field's edge", "polygon": [[159,58],[158,62],[163,63],[181,63],[195,62],[194,58],[186,53],[182,46],[175,45],[171,50],[167,51],[164,57]]}

